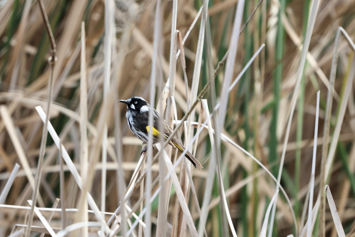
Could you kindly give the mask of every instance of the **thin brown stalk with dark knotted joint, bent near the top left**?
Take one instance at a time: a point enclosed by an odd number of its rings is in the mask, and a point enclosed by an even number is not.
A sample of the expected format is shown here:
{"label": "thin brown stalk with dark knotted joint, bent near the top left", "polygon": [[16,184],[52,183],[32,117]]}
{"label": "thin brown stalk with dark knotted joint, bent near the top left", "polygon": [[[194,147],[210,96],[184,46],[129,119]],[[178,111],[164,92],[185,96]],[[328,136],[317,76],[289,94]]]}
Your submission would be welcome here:
{"label": "thin brown stalk with dark knotted joint, bent near the top left", "polygon": [[35,176],[35,182],[34,182],[34,190],[32,194],[32,203],[31,209],[29,211],[29,216],[28,216],[28,222],[27,222],[27,227],[26,227],[26,232],[25,232],[25,237],[29,237],[31,233],[31,226],[33,223],[33,215],[34,215],[34,206],[37,203],[37,196],[38,196],[38,189],[39,189],[39,184],[40,184],[40,179],[41,179],[41,174],[42,174],[42,167],[43,167],[43,160],[44,160],[44,154],[45,154],[45,146],[47,142],[47,125],[48,125],[48,120],[50,116],[50,106],[52,102],[52,94],[53,94],[53,81],[54,81],[54,67],[55,67],[55,62],[57,60],[56,57],[56,44],[53,36],[52,29],[50,27],[49,21],[48,21],[48,16],[45,12],[44,4],[42,0],[38,0],[38,4],[40,7],[40,12],[44,21],[44,25],[48,34],[48,38],[50,41],[50,46],[51,46],[51,56],[48,59],[48,64],[50,67],[50,75],[49,75],[49,81],[48,81],[48,101],[47,101],[47,116],[48,118],[45,120],[43,129],[42,129],[42,139],[40,143],[40,150],[39,150],[39,157],[38,157],[38,165],[37,165],[37,172]]}

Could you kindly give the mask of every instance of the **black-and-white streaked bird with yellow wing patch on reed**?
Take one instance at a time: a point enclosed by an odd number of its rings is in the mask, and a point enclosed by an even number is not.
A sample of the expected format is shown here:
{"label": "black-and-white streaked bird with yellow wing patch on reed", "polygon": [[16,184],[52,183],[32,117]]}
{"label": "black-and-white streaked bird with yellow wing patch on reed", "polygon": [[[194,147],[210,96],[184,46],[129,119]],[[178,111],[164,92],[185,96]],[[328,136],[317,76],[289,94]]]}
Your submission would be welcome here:
{"label": "black-and-white streaked bird with yellow wing patch on reed", "polygon": [[[153,144],[160,142],[160,138],[163,140],[167,140],[171,133],[173,133],[173,129],[170,128],[168,123],[160,116],[160,114],[153,109],[148,102],[142,97],[131,97],[127,100],[122,99],[119,102],[127,104],[127,113],[126,118],[128,120],[128,125],[134,135],[138,139],[140,139],[144,144],[148,143],[148,133],[150,131],[150,127],[148,124],[149,111],[153,110],[154,122],[153,122]],[[185,151],[185,147],[178,140],[176,135],[170,140],[169,144],[173,147],[176,147],[181,152]],[[146,151],[143,149],[141,154]],[[198,160],[189,152],[186,151],[186,158],[191,161],[192,165],[196,168],[202,169],[202,165]]]}

